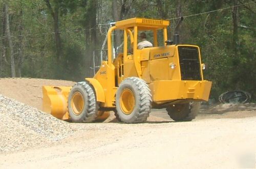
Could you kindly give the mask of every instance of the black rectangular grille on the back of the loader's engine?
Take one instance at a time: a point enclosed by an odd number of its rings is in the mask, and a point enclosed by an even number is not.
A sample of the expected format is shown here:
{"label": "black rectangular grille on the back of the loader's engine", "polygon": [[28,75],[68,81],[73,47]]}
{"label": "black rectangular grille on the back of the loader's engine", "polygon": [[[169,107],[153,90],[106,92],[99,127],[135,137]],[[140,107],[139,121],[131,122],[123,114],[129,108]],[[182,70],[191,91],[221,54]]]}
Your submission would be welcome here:
{"label": "black rectangular grille on the back of the loader's engine", "polygon": [[196,47],[179,46],[181,80],[202,80],[199,51]]}

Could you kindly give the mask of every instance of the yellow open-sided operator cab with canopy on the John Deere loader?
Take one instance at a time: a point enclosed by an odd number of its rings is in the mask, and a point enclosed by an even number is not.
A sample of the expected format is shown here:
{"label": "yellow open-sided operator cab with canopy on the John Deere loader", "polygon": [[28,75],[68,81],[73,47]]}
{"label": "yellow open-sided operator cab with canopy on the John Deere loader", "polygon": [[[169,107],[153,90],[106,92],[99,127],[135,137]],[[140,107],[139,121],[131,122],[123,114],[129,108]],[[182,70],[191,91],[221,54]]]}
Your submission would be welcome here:
{"label": "yellow open-sided operator cab with canopy on the John Deere loader", "polygon": [[[154,50],[159,50],[160,46],[166,46],[168,25],[169,21],[166,20],[145,18],[131,18],[115,23],[115,26],[112,27],[113,30],[109,31],[108,46],[114,46],[114,37],[111,36],[111,32],[114,30],[121,30],[123,32],[123,50],[119,48],[117,54],[115,54],[114,48],[111,47],[111,50],[108,51],[108,55],[111,56],[111,58],[108,57],[108,64],[111,64],[113,59],[115,66],[116,87],[126,77],[142,76],[144,69],[141,67],[141,64],[137,63],[143,60],[150,60],[151,51],[154,52]],[[142,32],[146,34],[147,41],[153,44],[152,47],[137,48],[137,44],[140,42],[139,35]]]}

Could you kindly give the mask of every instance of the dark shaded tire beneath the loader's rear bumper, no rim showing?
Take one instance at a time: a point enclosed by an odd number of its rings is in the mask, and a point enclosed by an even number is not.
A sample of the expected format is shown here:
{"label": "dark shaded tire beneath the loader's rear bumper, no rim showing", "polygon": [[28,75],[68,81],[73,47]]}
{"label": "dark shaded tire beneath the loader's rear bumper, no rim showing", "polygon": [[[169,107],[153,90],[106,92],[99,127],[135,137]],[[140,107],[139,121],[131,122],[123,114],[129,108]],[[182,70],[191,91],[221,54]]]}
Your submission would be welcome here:
{"label": "dark shaded tire beneath the loader's rear bumper, no rim showing", "polygon": [[186,104],[169,105],[166,110],[170,118],[174,121],[191,121],[196,118],[201,107],[200,102],[191,102]]}

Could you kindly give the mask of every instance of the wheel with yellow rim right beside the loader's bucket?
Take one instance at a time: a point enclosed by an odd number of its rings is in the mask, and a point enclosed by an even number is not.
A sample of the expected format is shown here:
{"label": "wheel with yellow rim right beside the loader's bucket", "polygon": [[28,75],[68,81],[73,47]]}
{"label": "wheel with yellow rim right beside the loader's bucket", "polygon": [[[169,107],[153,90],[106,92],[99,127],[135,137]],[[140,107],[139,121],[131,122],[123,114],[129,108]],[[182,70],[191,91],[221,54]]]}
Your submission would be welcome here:
{"label": "wheel with yellow rim right beside the loader's bucket", "polygon": [[98,116],[98,102],[93,87],[85,81],[76,83],[68,99],[69,116],[72,122],[93,122]]}

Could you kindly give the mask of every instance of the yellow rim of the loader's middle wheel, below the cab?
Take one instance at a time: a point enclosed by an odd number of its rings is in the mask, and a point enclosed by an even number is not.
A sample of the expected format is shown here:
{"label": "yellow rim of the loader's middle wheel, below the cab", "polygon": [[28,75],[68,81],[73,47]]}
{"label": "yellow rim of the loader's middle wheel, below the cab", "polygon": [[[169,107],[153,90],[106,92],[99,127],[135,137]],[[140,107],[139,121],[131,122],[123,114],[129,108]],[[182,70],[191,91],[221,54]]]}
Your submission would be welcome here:
{"label": "yellow rim of the loader's middle wheel, below the cab", "polygon": [[120,107],[125,115],[130,115],[135,107],[134,94],[130,89],[124,89],[120,97]]}

